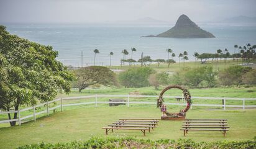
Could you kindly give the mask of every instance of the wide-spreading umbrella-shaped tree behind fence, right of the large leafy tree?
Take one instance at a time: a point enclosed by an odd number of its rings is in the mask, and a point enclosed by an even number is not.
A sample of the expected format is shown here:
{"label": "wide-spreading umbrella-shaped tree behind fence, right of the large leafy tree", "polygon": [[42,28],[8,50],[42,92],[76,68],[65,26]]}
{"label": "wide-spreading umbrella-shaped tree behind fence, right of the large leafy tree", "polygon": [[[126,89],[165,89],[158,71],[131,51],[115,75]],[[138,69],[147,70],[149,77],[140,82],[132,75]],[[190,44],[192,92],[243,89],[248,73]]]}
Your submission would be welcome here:
{"label": "wide-spreading umbrella-shaped tree behind fence, right of the large leafy tree", "polygon": [[118,86],[116,74],[104,66],[88,66],[75,70],[79,92],[94,84]]}

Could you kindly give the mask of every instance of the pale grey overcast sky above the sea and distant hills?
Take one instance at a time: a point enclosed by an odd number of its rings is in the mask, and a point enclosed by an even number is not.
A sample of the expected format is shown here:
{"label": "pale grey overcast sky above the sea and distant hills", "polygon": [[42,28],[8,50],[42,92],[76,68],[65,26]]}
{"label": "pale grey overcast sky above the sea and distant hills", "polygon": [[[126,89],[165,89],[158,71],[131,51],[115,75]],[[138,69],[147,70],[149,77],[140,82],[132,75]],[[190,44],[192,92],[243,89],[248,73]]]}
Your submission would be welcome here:
{"label": "pale grey overcast sky above the sea and distant hills", "polygon": [[255,0],[0,0],[0,22],[86,23],[152,17],[196,22],[256,16]]}

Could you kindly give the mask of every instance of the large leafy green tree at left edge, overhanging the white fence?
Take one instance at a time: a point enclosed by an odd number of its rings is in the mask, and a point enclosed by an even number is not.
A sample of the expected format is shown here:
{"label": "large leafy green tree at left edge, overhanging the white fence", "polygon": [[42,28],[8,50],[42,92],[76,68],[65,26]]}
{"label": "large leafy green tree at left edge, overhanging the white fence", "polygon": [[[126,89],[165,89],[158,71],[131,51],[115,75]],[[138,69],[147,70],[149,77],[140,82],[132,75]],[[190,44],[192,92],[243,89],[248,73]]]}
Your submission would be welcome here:
{"label": "large leafy green tree at left edge, overhanging the white fence", "polygon": [[[59,92],[70,92],[73,75],[57,61],[50,46],[11,35],[0,25],[0,109],[18,111],[37,101],[51,101]],[[9,119],[17,119],[17,112]],[[10,122],[11,126],[16,121]]]}

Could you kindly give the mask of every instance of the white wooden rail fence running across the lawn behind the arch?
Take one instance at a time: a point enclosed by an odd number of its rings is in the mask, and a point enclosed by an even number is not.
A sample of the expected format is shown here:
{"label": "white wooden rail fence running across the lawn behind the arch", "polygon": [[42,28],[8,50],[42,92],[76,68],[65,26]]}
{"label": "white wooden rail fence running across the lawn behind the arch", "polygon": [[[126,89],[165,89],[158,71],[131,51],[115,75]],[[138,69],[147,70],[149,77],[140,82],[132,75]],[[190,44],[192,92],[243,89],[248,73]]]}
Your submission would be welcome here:
{"label": "white wooden rail fence running across the lawn behind the arch", "polygon": [[[98,101],[99,97],[125,97],[127,100],[125,102],[109,102],[109,101]],[[109,104],[109,103],[120,103],[120,104],[127,104],[127,107],[130,106],[130,104],[157,104],[157,102],[144,102],[144,101],[130,101],[130,97],[155,97],[155,99],[157,99],[158,96],[149,96],[149,95],[90,95],[90,96],[79,96],[79,97],[63,97],[63,98],[59,98],[59,99],[55,99],[53,101],[48,101],[48,102],[44,102],[42,104],[33,106],[33,107],[27,107],[25,109],[21,109],[19,111],[7,111],[7,112],[0,112],[0,114],[14,114],[17,113],[17,119],[11,119],[11,120],[0,120],[0,124],[1,123],[8,123],[8,122],[19,122],[19,125],[22,124],[22,120],[25,119],[29,119],[30,117],[33,117],[34,121],[36,120],[36,116],[40,115],[40,114],[45,114],[47,113],[47,115],[50,114],[50,111],[53,111],[54,109],[60,108],[60,111],[63,111],[63,107],[66,106],[79,106],[79,105],[86,105],[86,104],[95,104],[95,106],[97,107],[98,104]],[[95,101],[93,102],[79,102],[79,103],[71,103],[71,104],[63,104],[63,100],[72,100],[72,99],[88,99],[88,98],[94,98]],[[164,96],[165,99],[168,98],[183,98],[181,96]],[[232,97],[193,97],[193,99],[207,99],[207,100],[222,100],[223,104],[194,104],[193,102],[193,107],[194,106],[204,106],[204,107],[223,107],[224,110],[226,110],[226,107],[240,107],[245,111],[246,107],[256,107],[256,105],[245,105],[245,101],[256,101],[256,98],[232,98]],[[192,99],[192,100],[193,100]],[[232,101],[242,101],[242,105],[227,105],[226,101],[227,100],[232,100]],[[49,107],[49,104],[52,102],[57,102],[60,101],[60,105],[55,106],[55,107]],[[165,102],[165,104],[167,105],[177,105],[177,106],[186,106],[186,103],[167,103]],[[47,106],[46,110],[40,111],[40,112],[36,112],[35,108],[37,107],[41,107],[41,106]],[[24,111],[29,111],[33,109],[33,114],[31,115],[27,115],[22,117],[21,112]],[[192,109],[192,106],[191,106]]]}

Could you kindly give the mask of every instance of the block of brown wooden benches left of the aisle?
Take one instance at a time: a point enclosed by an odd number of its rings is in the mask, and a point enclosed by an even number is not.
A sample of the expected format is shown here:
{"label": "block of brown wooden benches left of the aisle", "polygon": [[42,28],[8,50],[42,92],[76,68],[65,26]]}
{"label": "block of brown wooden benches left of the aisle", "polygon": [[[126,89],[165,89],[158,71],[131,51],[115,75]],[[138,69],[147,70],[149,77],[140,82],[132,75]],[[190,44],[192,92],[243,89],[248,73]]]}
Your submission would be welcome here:
{"label": "block of brown wooden benches left of the aisle", "polygon": [[106,135],[109,130],[114,132],[115,130],[140,130],[144,136],[145,132],[149,131],[150,129],[153,130],[156,125],[158,124],[158,119],[119,119],[116,122],[113,122],[107,127],[103,127],[102,129],[106,130]]}

